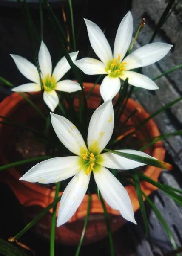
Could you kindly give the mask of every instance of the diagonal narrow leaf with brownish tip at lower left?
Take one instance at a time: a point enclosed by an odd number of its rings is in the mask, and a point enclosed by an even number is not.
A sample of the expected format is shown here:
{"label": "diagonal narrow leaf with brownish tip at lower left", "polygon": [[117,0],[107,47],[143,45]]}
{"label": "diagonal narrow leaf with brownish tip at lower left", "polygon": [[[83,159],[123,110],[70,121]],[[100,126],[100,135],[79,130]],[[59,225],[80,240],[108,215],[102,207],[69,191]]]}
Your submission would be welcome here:
{"label": "diagonal narrow leaf with brownish tip at lower left", "polygon": [[21,236],[23,236],[24,233],[26,233],[31,227],[34,226],[34,224],[37,223],[37,221],[39,221],[52,207],[55,206],[55,204],[57,204],[57,202],[59,202],[61,199],[61,196],[58,197],[56,200],[54,200],[51,204],[48,205],[48,207],[46,207],[45,209],[43,209],[42,212],[40,212],[32,221],[30,221],[26,227],[23,228],[23,230],[21,230],[19,233],[17,233],[16,236],[14,236],[13,238],[9,239],[9,241],[14,242],[15,240],[19,239]]}

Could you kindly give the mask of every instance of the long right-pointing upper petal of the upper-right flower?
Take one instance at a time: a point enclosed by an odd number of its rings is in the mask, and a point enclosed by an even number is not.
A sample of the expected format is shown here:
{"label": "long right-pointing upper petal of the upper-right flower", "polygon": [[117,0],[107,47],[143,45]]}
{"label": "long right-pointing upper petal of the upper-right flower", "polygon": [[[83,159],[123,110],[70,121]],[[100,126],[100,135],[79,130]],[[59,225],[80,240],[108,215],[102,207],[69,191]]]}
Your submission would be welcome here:
{"label": "long right-pointing upper petal of the upper-right flower", "polygon": [[162,59],[173,47],[171,44],[151,43],[146,44],[128,55],[123,62],[127,62],[126,70],[145,67]]}

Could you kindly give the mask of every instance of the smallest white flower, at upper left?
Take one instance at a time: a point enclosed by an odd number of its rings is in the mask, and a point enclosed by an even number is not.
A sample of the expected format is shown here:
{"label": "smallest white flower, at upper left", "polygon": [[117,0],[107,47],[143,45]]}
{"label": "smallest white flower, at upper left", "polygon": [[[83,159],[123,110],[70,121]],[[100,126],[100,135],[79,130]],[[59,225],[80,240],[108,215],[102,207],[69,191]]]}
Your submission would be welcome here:
{"label": "smallest white flower, at upper left", "polygon": [[[10,54],[11,57],[14,59],[17,68],[20,72],[28,78],[33,83],[22,84],[12,89],[15,92],[36,92],[41,90],[39,73],[37,67],[28,61],[26,58],[23,58],[19,55]],[[77,58],[78,52],[71,52],[70,57],[72,61],[75,61]],[[44,93],[43,99],[51,109],[57,107],[59,103],[59,98],[55,90],[63,91],[72,93],[77,90],[81,90],[80,84],[71,80],[63,80],[59,81],[66,72],[70,69],[70,65],[65,57],[61,58],[60,61],[57,63],[54,71],[52,73],[52,61],[51,55],[46,47],[44,42],[41,42],[39,54],[38,54],[38,61],[41,70],[41,79],[43,82]]]}

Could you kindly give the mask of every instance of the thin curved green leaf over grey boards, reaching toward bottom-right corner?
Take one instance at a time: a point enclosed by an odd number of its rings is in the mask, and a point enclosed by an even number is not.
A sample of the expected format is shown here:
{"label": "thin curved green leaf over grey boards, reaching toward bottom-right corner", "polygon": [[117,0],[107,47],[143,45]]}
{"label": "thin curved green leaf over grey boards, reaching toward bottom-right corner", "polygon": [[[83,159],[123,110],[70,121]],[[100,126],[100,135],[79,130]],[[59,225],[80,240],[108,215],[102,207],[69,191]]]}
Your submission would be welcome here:
{"label": "thin curved green leaf over grey boards, reaching toward bottom-right corner", "polygon": [[[169,227],[168,227],[168,224],[165,222],[165,219],[162,217],[160,211],[157,209],[157,207],[156,207],[155,204],[151,201],[151,199],[150,199],[147,195],[145,195],[144,192],[142,192],[142,194],[145,196],[146,201],[151,205],[151,207],[152,207],[152,209],[154,210],[154,212],[155,212],[157,218],[159,219],[160,223],[161,223],[162,226],[164,227],[164,229],[165,229],[165,231],[166,231],[166,233],[167,233],[167,235],[168,235],[168,238],[169,238],[169,240],[171,241],[171,244],[172,244],[172,246],[173,246],[173,249],[177,249],[177,245],[176,245],[176,242],[175,242],[175,240],[174,240],[174,238],[173,238],[173,235],[172,235],[172,233],[171,233],[171,231],[170,231],[170,229],[169,229]],[[176,256],[180,256],[180,255],[177,254]]]}

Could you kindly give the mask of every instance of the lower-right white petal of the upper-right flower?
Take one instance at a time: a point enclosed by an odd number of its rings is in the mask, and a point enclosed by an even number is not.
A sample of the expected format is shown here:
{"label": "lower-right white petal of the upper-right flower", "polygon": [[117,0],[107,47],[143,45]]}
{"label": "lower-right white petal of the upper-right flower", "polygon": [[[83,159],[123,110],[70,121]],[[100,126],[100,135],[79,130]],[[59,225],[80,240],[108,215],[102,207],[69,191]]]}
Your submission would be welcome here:
{"label": "lower-right white petal of the upper-right flower", "polygon": [[125,71],[124,75],[120,76],[120,78],[124,81],[127,77],[129,78],[128,83],[136,87],[141,87],[148,90],[159,89],[156,83],[148,78],[148,76],[144,76],[134,71]]}

